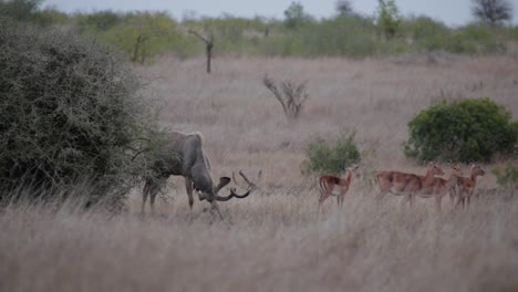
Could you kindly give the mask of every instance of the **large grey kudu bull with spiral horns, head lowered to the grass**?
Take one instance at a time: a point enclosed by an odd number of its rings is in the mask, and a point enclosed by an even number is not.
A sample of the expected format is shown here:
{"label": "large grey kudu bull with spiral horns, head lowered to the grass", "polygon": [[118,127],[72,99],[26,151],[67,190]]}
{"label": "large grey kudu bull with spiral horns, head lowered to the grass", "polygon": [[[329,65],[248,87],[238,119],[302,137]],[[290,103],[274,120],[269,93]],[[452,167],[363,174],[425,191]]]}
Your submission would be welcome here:
{"label": "large grey kudu bull with spiral horns, head lowered to the grass", "polygon": [[[216,201],[227,201],[231,198],[246,198],[251,189],[244,195],[236,194],[230,188],[230,195],[219,196],[218,191],[230,182],[229,177],[219,178],[217,186],[213,182],[210,160],[203,148],[203,136],[200,133],[184,134],[172,132],[166,134],[167,143],[160,149],[160,156],[152,165],[152,175],[145,179],[142,201],[142,213],[145,213],[145,205],[149,196],[152,212],[155,211],[155,198],[160,186],[169,176],[183,176],[185,189],[189,199],[189,208],[193,211],[193,189],[198,191],[200,200],[210,202],[211,208],[222,218]],[[242,175],[241,173],[241,176]]]}

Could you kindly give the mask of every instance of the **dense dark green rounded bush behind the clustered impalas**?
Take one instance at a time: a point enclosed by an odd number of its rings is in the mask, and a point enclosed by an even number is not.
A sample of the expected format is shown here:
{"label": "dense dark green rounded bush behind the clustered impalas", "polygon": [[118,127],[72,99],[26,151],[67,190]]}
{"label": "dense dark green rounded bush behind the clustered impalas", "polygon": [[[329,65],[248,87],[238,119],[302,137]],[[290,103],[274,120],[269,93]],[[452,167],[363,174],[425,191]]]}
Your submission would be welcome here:
{"label": "dense dark green rounded bush behind the clustered impalas", "polygon": [[518,129],[489,98],[443,102],[408,122],[405,154],[419,160],[488,161],[514,152]]}

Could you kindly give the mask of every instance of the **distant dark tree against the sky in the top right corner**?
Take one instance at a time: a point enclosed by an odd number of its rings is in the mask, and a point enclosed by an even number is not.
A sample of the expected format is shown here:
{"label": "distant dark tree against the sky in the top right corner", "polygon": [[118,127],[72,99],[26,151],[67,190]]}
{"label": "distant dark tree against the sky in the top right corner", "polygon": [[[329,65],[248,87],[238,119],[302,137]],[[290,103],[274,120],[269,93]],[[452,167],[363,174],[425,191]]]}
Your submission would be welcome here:
{"label": "distant dark tree against the sky in the top right corner", "polygon": [[507,0],[472,0],[473,14],[491,25],[512,19],[512,6]]}

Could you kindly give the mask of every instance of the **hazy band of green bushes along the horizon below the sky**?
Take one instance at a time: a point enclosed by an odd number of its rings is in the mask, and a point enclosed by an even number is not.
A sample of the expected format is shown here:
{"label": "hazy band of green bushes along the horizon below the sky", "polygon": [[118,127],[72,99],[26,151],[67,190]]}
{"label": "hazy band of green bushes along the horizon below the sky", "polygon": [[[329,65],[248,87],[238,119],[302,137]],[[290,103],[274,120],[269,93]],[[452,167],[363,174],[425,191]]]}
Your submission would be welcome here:
{"label": "hazy band of green bushes along the horizon below the sky", "polygon": [[42,25],[59,25],[93,35],[123,51],[134,62],[149,63],[173,52],[180,58],[204,54],[204,45],[188,31],[214,36],[216,54],[282,56],[353,56],[445,51],[462,54],[501,53],[518,40],[516,27],[472,23],[449,28],[428,17],[404,18],[394,1],[379,1],[375,17],[350,11],[317,19],[292,2],[283,19],[184,15],[166,12],[111,10],[65,14],[39,10],[40,0],[0,1],[0,17]]}

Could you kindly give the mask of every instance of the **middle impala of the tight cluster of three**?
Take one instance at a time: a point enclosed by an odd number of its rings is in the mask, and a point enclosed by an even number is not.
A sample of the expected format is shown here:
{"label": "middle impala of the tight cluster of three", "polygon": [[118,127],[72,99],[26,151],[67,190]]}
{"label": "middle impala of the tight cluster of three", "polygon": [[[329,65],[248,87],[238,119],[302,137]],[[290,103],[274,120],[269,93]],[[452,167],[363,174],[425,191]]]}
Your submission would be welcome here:
{"label": "middle impala of the tight cluster of three", "polygon": [[[444,195],[447,192],[453,194],[459,177],[463,175],[463,170],[459,165],[450,166],[452,175],[448,179],[442,177],[433,177],[432,182],[427,187],[423,187],[421,190],[416,191],[415,195],[421,198],[435,198],[435,204],[437,211],[441,211],[441,205]],[[407,198],[405,198],[405,201]]]}

